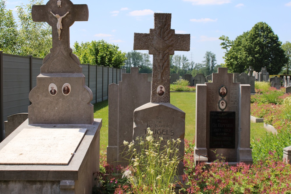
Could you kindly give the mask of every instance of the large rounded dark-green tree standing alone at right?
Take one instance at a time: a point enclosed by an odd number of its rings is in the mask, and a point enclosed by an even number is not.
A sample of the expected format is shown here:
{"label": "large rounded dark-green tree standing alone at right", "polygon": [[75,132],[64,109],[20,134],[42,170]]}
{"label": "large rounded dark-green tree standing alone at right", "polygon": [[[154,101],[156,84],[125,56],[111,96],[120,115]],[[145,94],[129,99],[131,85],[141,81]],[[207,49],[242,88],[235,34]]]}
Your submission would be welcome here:
{"label": "large rounded dark-green tree standing alone at right", "polygon": [[226,49],[224,66],[230,72],[244,72],[253,66],[257,71],[267,67],[269,74],[278,74],[288,60],[278,36],[265,22],[258,22],[234,41],[226,36],[220,37],[220,40],[223,41],[222,48]]}

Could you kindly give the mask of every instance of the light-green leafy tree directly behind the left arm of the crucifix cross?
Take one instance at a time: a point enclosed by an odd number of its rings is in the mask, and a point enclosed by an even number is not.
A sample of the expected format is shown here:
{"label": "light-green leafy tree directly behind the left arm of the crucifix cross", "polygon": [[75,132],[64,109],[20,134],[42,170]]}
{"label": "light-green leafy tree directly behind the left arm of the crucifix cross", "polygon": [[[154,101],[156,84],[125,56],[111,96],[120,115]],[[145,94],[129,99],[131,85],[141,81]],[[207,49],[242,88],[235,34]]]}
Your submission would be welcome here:
{"label": "light-green leafy tree directly behind the left arm of the crucifix cross", "polygon": [[46,22],[33,22],[31,8],[33,5],[42,5],[43,0],[31,0],[29,4],[17,6],[19,18],[19,55],[32,55],[44,58],[52,47],[52,28]]}

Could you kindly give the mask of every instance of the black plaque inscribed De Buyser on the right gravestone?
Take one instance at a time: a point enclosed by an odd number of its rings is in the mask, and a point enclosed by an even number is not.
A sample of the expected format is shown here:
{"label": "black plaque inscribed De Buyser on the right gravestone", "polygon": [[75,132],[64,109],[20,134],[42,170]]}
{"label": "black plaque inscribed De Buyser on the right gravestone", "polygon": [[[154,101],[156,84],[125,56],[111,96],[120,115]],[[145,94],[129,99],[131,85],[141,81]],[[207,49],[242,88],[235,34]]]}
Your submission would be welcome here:
{"label": "black plaque inscribed De Buyser on the right gravestone", "polygon": [[210,112],[210,148],[235,148],[235,112]]}

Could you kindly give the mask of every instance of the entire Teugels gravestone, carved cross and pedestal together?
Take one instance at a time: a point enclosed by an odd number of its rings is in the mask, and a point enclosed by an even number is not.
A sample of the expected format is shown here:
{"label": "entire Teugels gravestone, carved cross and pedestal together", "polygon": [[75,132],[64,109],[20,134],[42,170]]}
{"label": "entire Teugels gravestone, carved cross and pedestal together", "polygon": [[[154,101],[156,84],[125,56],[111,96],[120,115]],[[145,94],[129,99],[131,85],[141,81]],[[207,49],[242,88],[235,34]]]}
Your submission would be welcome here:
{"label": "entire Teugels gravestone, carved cross and pedestal together", "polygon": [[[154,29],[150,33],[134,33],[134,50],[149,50],[153,55],[152,88],[150,102],[134,110],[133,140],[144,137],[147,128],[155,138],[180,138],[179,154],[184,156],[185,113],[170,104],[170,55],[175,51],[190,50],[190,34],[175,34],[171,29],[171,14],[155,13]],[[178,175],[184,164],[178,164]]]}

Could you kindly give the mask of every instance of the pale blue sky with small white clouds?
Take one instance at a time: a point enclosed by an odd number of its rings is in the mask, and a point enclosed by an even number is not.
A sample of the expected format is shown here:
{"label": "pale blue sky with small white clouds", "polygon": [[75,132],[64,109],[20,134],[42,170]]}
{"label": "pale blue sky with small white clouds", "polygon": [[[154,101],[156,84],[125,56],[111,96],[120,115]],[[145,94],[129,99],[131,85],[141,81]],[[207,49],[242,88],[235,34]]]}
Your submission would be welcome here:
{"label": "pale blue sky with small white clouds", "polygon": [[[154,27],[154,13],[171,13],[171,29],[191,35],[190,51],[175,51],[189,60],[201,63],[206,51],[216,54],[223,63],[224,50],[218,39],[226,35],[234,40],[257,22],[266,22],[281,42],[291,42],[290,0],[71,0],[87,4],[88,22],[75,22],[70,27],[70,45],[101,40],[118,45],[120,50],[133,50],[134,33],[148,33]],[[6,0],[7,9],[15,9],[28,0]],[[44,3],[47,3],[45,0]],[[15,13],[15,12],[14,12]],[[147,51],[140,51],[147,52]]]}

